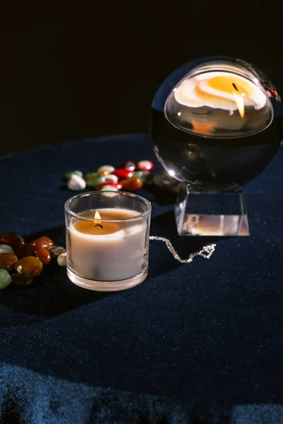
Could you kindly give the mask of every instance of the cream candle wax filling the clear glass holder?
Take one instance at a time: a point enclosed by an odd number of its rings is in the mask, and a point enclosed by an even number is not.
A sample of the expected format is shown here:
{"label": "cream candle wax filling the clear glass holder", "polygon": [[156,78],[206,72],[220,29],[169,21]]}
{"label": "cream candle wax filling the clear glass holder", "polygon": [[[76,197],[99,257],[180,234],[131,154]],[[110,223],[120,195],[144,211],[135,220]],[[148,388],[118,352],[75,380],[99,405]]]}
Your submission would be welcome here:
{"label": "cream candle wax filling the clear glass holder", "polygon": [[[117,221],[110,234],[86,234],[76,228],[73,218],[69,233],[69,266],[79,276],[95,281],[121,281],[141,273],[146,264],[146,223],[142,218],[127,220],[138,213],[127,209],[99,209],[101,221],[88,221],[89,225],[100,223],[107,228],[111,220],[103,221],[103,215],[111,213]],[[95,211],[88,211],[93,213]],[[115,215],[117,214],[117,218]],[[118,221],[122,217],[123,220]],[[119,218],[118,218],[119,217]]]}

